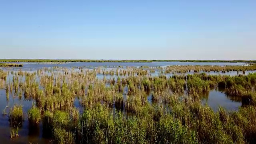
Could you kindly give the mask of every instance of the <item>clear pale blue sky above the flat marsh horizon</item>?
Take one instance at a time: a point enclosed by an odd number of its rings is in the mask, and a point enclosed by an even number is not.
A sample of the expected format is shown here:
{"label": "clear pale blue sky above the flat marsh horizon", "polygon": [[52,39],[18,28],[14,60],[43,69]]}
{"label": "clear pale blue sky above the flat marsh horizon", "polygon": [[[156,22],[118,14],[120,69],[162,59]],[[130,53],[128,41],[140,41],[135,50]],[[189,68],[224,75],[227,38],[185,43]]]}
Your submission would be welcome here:
{"label": "clear pale blue sky above the flat marsh horizon", "polygon": [[0,58],[256,59],[256,0],[0,0]]}

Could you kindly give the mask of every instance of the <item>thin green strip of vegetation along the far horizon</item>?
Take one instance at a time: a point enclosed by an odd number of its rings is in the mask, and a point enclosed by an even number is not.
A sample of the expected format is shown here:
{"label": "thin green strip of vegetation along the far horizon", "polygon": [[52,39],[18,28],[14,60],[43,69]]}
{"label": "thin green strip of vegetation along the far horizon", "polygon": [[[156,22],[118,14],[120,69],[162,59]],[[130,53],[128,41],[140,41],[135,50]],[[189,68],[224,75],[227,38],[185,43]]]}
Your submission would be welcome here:
{"label": "thin green strip of vegetation along the far horizon", "polygon": [[50,60],[50,59],[0,59],[0,62],[245,62],[256,60]]}

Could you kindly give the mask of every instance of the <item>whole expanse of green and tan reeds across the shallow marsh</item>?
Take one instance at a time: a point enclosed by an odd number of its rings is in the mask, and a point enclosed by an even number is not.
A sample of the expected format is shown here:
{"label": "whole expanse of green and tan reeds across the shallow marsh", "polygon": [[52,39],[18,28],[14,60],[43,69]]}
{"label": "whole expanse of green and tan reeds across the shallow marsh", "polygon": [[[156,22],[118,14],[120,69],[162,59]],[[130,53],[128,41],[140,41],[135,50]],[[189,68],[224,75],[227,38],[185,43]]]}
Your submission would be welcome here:
{"label": "whole expanse of green and tan reeds across the shallow marsh", "polygon": [[[6,96],[14,93],[35,102],[28,121],[36,126],[42,120],[43,135],[58,144],[256,142],[255,73],[167,77],[151,76],[144,68],[20,70],[12,72],[4,88]],[[104,72],[112,77],[97,77]],[[0,74],[8,75],[3,70]],[[214,88],[241,97],[239,110],[214,112],[203,106],[198,97]],[[22,124],[25,117],[18,105],[8,115],[10,124]]]}

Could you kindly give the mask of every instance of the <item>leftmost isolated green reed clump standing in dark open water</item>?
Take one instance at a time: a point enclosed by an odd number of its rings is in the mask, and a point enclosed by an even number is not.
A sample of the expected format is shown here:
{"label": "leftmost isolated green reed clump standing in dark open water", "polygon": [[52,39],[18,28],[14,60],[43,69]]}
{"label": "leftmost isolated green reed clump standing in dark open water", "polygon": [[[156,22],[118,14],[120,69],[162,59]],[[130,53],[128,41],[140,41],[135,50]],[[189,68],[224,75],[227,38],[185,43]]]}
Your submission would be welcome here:
{"label": "leftmost isolated green reed clump standing in dark open water", "polygon": [[22,122],[24,121],[22,105],[14,105],[12,108],[10,108],[8,121],[14,126],[22,125]]}

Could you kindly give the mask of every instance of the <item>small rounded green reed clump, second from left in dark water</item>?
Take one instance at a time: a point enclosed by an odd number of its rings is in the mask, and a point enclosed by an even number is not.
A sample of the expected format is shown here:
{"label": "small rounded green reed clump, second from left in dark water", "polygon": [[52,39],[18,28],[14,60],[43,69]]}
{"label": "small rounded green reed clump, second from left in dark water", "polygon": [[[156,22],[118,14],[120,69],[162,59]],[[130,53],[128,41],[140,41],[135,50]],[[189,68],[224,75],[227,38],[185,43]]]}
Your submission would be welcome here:
{"label": "small rounded green reed clump, second from left in dark water", "polygon": [[33,107],[28,110],[28,121],[31,124],[38,124],[41,119],[41,112],[39,108]]}

